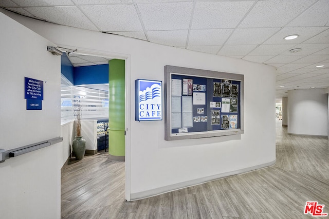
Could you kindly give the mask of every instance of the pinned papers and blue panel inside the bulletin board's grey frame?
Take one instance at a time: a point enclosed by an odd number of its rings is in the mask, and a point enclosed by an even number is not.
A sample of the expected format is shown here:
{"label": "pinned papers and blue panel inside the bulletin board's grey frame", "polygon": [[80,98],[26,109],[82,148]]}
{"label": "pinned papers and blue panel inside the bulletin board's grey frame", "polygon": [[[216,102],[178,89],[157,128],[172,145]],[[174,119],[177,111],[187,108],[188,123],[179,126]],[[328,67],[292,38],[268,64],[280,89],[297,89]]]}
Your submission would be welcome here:
{"label": "pinned papers and blue panel inside the bulletin board's grey frame", "polygon": [[239,129],[241,81],[171,74],[171,133]]}

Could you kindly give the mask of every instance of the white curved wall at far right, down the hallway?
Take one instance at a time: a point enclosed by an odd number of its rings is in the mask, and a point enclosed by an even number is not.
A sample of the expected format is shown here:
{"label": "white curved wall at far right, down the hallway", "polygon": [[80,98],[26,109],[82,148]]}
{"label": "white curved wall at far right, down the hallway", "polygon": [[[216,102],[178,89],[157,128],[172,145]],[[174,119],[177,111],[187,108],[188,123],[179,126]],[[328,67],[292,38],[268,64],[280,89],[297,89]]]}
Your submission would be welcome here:
{"label": "white curved wall at far right, down the hallway", "polygon": [[289,90],[288,133],[327,136],[327,101],[324,89]]}

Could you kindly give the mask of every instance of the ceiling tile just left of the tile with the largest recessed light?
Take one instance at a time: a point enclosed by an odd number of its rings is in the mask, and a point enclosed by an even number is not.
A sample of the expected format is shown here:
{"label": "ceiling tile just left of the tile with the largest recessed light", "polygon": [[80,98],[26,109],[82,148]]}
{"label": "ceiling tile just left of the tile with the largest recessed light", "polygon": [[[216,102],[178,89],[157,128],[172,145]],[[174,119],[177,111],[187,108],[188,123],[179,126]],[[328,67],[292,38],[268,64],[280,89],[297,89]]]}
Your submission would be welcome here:
{"label": "ceiling tile just left of the tile with the largest recessed light", "polygon": [[280,28],[239,28],[235,29],[227,41],[227,45],[262,44]]}

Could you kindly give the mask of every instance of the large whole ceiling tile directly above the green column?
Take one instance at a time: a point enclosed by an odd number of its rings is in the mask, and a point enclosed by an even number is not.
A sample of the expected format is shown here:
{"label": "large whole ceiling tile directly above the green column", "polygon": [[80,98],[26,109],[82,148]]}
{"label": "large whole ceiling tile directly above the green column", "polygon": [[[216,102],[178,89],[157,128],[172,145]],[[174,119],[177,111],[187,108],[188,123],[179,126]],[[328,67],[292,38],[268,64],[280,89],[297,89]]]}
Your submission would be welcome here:
{"label": "large whole ceiling tile directly above the green column", "polygon": [[134,5],[80,6],[101,31],[142,31]]}

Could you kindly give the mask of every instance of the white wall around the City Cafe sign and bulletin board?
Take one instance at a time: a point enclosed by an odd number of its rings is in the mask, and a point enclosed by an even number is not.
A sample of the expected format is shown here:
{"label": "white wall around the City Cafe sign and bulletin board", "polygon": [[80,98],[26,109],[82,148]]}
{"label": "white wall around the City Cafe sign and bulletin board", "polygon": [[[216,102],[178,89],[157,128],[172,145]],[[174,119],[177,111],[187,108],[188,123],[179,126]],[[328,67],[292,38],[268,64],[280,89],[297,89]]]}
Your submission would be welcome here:
{"label": "white wall around the City Cafe sign and bulletin board", "polygon": [[[133,198],[275,162],[274,67],[11,16],[59,46],[127,57],[126,174]],[[244,134],[167,142],[165,121],[134,121],[135,79],[164,81],[165,65],[244,74]]]}

